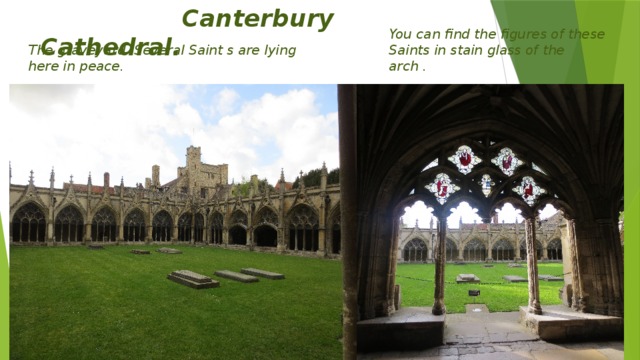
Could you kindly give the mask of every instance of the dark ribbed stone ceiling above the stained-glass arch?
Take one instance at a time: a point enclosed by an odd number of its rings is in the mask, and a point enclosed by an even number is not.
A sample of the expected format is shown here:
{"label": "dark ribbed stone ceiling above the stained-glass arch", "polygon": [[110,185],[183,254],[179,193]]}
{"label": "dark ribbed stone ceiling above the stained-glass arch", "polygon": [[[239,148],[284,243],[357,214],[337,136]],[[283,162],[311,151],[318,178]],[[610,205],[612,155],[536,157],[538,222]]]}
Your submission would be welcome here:
{"label": "dark ribbed stone ceiling above the stained-glass arch", "polygon": [[619,209],[621,85],[359,85],[356,94],[361,208],[397,202],[406,194],[388,190],[410,187],[448,144],[491,136],[545,169],[577,216]]}

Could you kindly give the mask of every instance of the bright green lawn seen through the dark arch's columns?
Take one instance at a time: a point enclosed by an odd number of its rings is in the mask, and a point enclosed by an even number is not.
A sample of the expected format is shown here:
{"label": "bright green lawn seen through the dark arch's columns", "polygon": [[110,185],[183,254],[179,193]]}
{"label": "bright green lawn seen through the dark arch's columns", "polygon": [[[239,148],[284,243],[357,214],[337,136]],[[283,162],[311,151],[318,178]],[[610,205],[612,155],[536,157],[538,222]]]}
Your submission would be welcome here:
{"label": "bright green lawn seen through the dark arch's columns", "polygon": [[[519,306],[527,305],[528,283],[509,283],[502,279],[504,275],[519,275],[527,278],[527,268],[509,268],[506,263],[494,263],[492,268],[484,264],[447,264],[445,267],[444,302],[447,313],[464,313],[465,304],[486,304],[491,312],[518,311]],[[561,263],[538,263],[540,275],[562,277]],[[475,274],[481,280],[479,284],[457,284],[458,274]],[[396,284],[402,291],[402,306],[432,306],[435,278],[433,264],[400,264],[396,271]],[[561,304],[558,289],[564,282],[540,281],[540,302],[542,306]],[[470,297],[468,290],[480,290],[480,296]]]}

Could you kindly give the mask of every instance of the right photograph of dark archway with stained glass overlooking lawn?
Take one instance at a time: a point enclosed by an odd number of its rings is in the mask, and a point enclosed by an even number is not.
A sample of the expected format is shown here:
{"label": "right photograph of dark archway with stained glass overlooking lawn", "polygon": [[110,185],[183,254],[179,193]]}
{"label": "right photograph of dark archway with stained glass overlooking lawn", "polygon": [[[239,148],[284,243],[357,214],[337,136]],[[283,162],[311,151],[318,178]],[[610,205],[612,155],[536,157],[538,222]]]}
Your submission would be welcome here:
{"label": "right photograph of dark archway with stained glass overlooking lawn", "polygon": [[622,85],[338,101],[345,358],[623,339]]}

